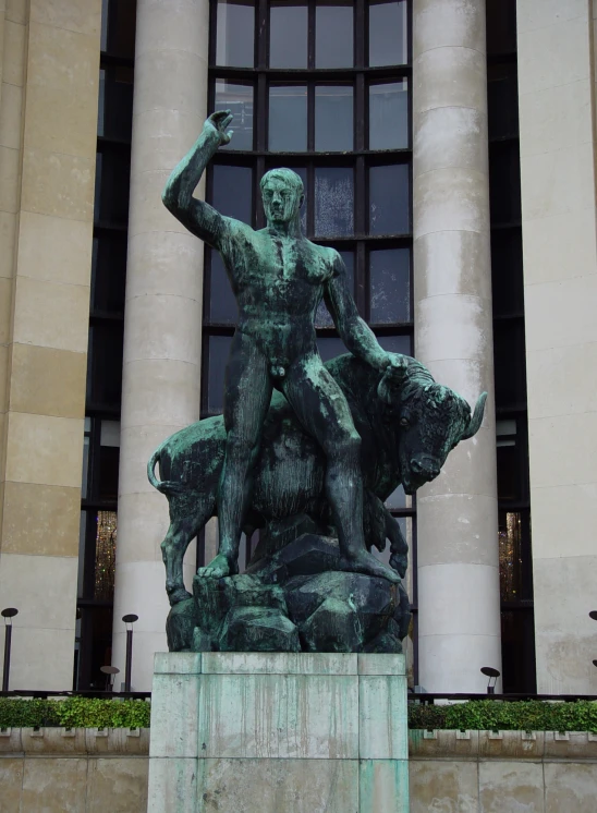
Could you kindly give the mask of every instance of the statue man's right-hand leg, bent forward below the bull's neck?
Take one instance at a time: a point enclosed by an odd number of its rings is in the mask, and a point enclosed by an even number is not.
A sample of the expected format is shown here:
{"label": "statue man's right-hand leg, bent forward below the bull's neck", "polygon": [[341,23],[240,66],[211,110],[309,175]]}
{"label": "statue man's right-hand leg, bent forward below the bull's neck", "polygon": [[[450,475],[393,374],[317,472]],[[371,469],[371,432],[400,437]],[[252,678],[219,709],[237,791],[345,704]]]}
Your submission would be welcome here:
{"label": "statue man's right-hand leg, bent forward below the bull's neck", "polygon": [[283,392],[326,454],[326,496],[346,566],[357,572],[399,582],[398,574],[365,546],[361,437],[338,383],[318,355],[309,355],[289,369]]}

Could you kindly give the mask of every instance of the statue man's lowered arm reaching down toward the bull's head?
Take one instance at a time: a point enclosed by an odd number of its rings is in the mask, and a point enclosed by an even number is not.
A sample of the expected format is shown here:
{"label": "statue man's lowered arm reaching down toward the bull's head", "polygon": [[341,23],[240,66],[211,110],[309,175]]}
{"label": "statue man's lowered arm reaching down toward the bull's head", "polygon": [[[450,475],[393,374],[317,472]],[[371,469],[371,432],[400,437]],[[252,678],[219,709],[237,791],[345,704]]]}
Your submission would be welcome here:
{"label": "statue man's lowered arm reaching down toward the bull's head", "polygon": [[338,252],[334,254],[334,276],[327,282],[324,292],[328,311],[351,353],[375,369],[385,371],[390,364],[393,365],[393,360],[379,345],[373,330],[358,315],[349,290],[344,263]]}

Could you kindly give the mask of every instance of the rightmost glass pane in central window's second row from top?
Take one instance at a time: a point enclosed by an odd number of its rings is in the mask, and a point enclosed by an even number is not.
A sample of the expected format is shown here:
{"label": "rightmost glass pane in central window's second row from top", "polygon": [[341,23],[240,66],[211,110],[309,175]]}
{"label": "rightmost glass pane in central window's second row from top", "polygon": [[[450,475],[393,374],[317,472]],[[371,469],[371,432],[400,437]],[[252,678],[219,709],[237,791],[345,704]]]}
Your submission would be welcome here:
{"label": "rightmost glass pane in central window's second row from top", "polygon": [[369,149],[409,146],[409,83],[389,82],[369,87]]}

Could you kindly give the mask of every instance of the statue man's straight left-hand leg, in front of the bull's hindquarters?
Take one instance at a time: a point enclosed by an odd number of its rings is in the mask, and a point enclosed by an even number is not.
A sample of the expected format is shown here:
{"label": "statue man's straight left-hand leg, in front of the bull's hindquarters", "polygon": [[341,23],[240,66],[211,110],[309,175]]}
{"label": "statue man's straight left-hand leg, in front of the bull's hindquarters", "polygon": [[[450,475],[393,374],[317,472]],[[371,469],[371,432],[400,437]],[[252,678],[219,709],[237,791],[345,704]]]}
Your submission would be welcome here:
{"label": "statue man's straight left-hand leg, in front of the bull's hindquarters", "polygon": [[239,544],[251,489],[247,476],[253,465],[264,421],[271,399],[266,357],[255,341],[236,331],[224,380],[226,458],[220,477],[218,555],[198,574],[214,578],[239,572]]}

